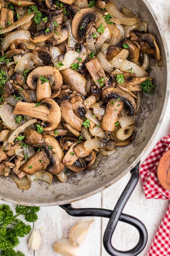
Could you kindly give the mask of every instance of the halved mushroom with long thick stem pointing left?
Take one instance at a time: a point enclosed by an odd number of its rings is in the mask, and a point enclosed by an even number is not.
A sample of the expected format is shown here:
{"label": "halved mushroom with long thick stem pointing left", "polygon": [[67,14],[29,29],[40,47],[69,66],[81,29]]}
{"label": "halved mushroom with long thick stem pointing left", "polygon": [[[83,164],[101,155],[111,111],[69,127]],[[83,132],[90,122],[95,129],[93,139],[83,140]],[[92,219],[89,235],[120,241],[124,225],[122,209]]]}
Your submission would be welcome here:
{"label": "halved mushroom with long thick stem pointing left", "polygon": [[14,114],[26,114],[38,118],[43,122],[44,131],[55,130],[61,121],[61,110],[58,104],[50,98],[43,99],[41,105],[36,103],[18,102],[13,111]]}

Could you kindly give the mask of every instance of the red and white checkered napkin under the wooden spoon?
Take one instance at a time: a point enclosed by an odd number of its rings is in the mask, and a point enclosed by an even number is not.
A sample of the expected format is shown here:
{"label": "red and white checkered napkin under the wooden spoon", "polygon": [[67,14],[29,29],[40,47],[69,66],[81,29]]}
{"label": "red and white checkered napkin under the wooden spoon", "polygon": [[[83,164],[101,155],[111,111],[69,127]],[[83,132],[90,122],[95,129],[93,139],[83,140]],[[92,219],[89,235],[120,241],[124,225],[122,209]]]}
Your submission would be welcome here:
{"label": "red and white checkered napkin under the wooden spoon", "polygon": [[[161,156],[170,149],[170,134],[159,140],[140,167],[146,198],[170,199],[170,191],[162,188],[157,179],[157,165]],[[170,256],[170,205],[162,220],[147,256]]]}

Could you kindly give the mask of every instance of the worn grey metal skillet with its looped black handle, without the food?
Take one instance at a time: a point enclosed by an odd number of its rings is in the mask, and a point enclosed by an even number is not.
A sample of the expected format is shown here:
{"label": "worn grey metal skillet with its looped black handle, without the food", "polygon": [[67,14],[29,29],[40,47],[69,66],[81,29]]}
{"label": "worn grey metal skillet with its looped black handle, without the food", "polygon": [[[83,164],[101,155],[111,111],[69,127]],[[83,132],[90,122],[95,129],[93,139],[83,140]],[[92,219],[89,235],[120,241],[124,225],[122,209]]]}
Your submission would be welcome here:
{"label": "worn grey metal skillet with its looped black handle, without the food", "polygon": [[[143,107],[136,122],[136,139],[127,147],[119,148],[118,152],[113,154],[113,156],[110,156],[109,158],[104,157],[96,170],[83,171],[80,173],[68,173],[68,181],[65,184],[59,183],[56,180],[53,181],[51,185],[36,183],[32,184],[30,190],[22,192],[16,188],[16,185],[10,178],[3,178],[1,176],[0,198],[2,200],[20,205],[53,206],[65,205],[89,197],[109,187],[114,182],[122,178],[122,176],[136,166],[141,157],[145,155],[146,149],[151,147],[157,130],[161,126],[162,117],[164,116],[169,98],[170,77],[168,77],[167,73],[169,60],[165,37],[159,28],[157,18],[152,8],[146,0],[121,0],[117,1],[117,5],[118,8],[125,6],[139,18],[148,22],[148,31],[157,36],[161,45],[162,57],[164,59],[162,67],[158,67],[157,62],[153,59],[151,60],[150,75],[154,77],[156,89],[154,93],[145,95],[144,97]],[[133,170],[131,181],[134,182],[135,180],[136,182],[137,178],[138,172]],[[135,187],[135,182],[133,184],[130,182],[130,185],[128,185],[128,188],[125,190],[121,201],[118,202],[115,210],[116,212],[114,211],[113,214],[111,214],[112,212],[109,210],[90,210],[89,212],[85,209],[84,212],[72,212],[70,205],[62,207],[72,215],[95,215],[105,217],[110,217],[112,215],[104,237],[104,241],[106,241],[105,248],[110,255],[137,255],[146,244],[146,229],[140,221],[132,218],[131,216],[121,215],[119,217],[128,196],[133,190],[132,188]],[[130,192],[128,189],[131,189]],[[126,194],[128,195],[127,197]],[[141,240],[134,250],[129,252],[113,251],[110,240],[118,219],[124,222],[129,221],[129,223],[136,225],[140,229]],[[114,220],[116,220],[115,223],[113,223]]]}

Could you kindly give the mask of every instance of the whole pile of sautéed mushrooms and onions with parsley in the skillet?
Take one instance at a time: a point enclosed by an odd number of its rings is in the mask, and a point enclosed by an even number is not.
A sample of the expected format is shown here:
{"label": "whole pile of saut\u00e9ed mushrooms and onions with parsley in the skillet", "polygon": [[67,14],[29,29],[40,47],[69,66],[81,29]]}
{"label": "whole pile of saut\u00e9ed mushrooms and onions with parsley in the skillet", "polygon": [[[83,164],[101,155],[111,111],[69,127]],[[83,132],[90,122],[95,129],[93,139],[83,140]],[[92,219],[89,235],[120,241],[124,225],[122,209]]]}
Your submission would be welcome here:
{"label": "whole pile of saut\u00e9ed mushrooms and onions with parsley in the skillet", "polygon": [[134,140],[161,61],[147,22],[109,0],[1,0],[0,40],[0,175],[64,182]]}

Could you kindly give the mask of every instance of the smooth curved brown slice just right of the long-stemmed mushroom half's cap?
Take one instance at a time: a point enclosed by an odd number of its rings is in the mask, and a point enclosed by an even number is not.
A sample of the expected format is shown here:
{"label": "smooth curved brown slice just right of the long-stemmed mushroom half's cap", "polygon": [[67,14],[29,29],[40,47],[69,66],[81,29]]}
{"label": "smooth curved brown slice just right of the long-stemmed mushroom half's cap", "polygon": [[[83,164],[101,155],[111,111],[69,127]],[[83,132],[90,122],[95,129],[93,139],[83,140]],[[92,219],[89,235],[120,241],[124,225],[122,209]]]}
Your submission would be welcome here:
{"label": "smooth curved brown slice just right of the long-stemmed mushroom half's cap", "polygon": [[70,100],[60,103],[61,116],[66,123],[71,125],[76,131],[81,131],[82,120],[73,112]]}

